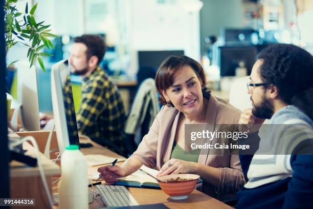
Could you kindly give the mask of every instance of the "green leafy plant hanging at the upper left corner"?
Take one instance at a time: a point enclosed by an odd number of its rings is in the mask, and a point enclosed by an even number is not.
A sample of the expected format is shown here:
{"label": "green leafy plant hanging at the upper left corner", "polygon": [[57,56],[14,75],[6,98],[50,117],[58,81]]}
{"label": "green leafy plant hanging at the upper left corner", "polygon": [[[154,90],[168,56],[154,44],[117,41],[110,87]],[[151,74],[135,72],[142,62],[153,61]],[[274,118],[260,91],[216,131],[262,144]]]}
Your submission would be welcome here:
{"label": "green leafy plant hanging at the upper left corner", "polygon": [[[51,30],[48,29],[50,25],[44,25],[44,21],[36,22],[34,14],[38,3],[31,9],[26,3],[25,11],[22,12],[16,8],[18,2],[20,1],[5,0],[4,3],[6,54],[17,43],[23,44],[28,47],[27,57],[30,67],[37,59],[41,69],[45,71],[41,57],[52,56],[52,54],[41,52],[41,50],[44,47],[54,49],[49,38],[56,37],[56,35],[50,33]],[[18,60],[11,62],[8,68],[13,66],[16,61]]]}

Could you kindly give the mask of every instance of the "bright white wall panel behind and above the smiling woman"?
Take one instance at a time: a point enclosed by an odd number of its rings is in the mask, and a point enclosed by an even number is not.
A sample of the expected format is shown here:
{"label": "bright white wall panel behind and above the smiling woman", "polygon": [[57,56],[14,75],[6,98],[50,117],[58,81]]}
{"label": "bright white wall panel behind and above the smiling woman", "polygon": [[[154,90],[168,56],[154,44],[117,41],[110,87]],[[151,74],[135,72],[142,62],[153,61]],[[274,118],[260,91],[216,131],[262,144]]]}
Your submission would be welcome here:
{"label": "bright white wall panel behind and above the smiling woman", "polygon": [[189,13],[183,1],[127,1],[130,74],[138,68],[138,50],[184,50],[187,56],[200,60],[199,12]]}

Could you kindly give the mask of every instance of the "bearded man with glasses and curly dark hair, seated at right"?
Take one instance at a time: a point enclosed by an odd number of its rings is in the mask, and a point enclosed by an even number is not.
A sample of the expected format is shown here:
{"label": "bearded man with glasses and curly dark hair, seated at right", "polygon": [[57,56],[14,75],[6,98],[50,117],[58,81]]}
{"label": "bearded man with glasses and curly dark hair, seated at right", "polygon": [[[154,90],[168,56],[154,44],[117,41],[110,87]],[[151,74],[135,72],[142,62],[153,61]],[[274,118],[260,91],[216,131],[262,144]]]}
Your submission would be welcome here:
{"label": "bearded man with glasses and curly dark hair, seated at right", "polygon": [[[253,108],[242,112],[239,123],[251,129],[270,119],[262,128],[271,131],[260,135],[255,155],[240,156],[248,181],[237,193],[235,207],[313,208],[312,55],[293,45],[272,45],[259,54],[247,87]],[[299,131],[300,125],[308,129]],[[275,140],[289,152],[260,152],[264,141],[269,145]],[[289,144],[294,144],[293,149]]]}

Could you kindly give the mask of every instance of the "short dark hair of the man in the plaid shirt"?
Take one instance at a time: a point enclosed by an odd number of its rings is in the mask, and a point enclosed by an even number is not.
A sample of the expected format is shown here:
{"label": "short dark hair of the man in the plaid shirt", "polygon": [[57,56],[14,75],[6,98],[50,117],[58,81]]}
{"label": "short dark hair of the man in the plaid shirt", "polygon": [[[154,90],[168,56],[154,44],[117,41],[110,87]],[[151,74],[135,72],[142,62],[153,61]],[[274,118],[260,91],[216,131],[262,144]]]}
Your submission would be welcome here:
{"label": "short dark hair of the man in the plaid shirt", "polygon": [[102,61],[106,46],[103,38],[100,35],[82,35],[74,38],[74,43],[82,43],[86,45],[86,56],[89,60],[92,56],[98,57],[97,65]]}

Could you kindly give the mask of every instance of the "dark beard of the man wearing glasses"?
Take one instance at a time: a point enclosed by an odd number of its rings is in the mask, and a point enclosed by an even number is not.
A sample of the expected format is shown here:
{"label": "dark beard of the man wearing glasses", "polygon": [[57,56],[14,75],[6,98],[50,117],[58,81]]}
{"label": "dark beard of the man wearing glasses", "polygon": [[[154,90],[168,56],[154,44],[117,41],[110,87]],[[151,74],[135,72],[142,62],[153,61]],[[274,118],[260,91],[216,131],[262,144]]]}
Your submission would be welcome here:
{"label": "dark beard of the man wearing glasses", "polygon": [[252,114],[255,117],[270,119],[273,116],[274,106],[273,106],[273,102],[270,99],[265,98],[265,96],[263,95],[262,101],[259,105],[256,105],[254,101],[252,100],[252,98],[251,98],[251,101],[252,101],[252,106],[253,106]]}

